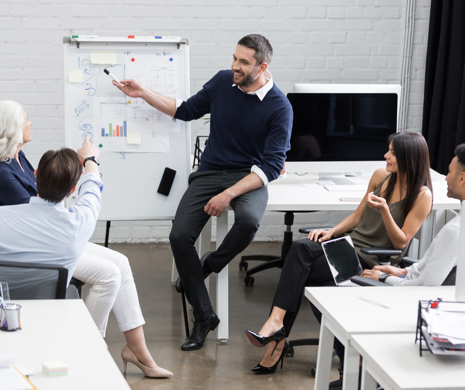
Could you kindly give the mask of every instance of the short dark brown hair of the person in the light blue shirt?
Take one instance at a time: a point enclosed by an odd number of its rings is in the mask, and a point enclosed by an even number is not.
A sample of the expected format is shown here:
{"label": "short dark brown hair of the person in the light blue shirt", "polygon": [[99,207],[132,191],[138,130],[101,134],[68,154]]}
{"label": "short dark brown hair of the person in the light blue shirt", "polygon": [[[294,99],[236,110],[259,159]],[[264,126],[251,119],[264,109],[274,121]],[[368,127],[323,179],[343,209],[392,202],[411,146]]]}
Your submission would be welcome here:
{"label": "short dark brown hair of the person in the light blue shirt", "polygon": [[42,199],[61,202],[71,193],[82,173],[82,161],[69,148],[49,150],[37,167],[37,192]]}

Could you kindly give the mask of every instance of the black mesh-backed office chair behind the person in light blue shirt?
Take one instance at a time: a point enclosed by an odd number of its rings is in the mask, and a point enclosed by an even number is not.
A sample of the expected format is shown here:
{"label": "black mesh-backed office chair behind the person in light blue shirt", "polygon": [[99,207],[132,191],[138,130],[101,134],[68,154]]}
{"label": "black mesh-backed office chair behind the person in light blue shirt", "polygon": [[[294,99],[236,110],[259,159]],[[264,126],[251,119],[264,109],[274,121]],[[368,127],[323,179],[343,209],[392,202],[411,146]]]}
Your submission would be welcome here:
{"label": "black mesh-backed office chair behind the person in light blue shirt", "polygon": [[10,299],[78,298],[66,289],[68,269],[54,264],[0,261],[0,279],[8,282]]}

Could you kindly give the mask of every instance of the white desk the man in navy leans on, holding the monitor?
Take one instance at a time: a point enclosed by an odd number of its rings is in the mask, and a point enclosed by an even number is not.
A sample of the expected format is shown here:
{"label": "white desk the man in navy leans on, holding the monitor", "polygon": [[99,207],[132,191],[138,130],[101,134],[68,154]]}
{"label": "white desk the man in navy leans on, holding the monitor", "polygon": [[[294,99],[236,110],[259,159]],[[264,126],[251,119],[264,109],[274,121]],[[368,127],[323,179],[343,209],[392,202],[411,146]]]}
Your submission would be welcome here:
{"label": "white desk the man in navy leans on, holding the monitor", "polygon": [[[428,218],[421,229],[420,257],[426,252],[432,238],[444,226],[446,210],[460,209],[460,202],[457,199],[447,197],[447,184],[445,176],[432,171],[433,177],[433,213]],[[350,177],[356,184],[366,184],[368,180],[358,177]],[[328,191],[323,186],[316,183],[316,174],[286,174],[272,181],[268,185],[268,211],[354,211],[359,202],[343,202],[341,197],[363,197],[365,191]],[[302,183],[310,184],[304,187]],[[212,219],[212,218],[211,218]],[[211,219],[200,237],[198,253],[200,256],[210,251],[211,242]],[[228,213],[224,212],[221,217],[216,218],[216,247],[221,244],[228,233]],[[172,281],[175,282],[178,275],[173,264]],[[208,282],[207,282],[208,283]],[[217,328],[217,338],[220,341],[227,341],[229,337],[229,309],[228,309],[228,267],[218,273],[216,279],[216,314],[221,320]]]}

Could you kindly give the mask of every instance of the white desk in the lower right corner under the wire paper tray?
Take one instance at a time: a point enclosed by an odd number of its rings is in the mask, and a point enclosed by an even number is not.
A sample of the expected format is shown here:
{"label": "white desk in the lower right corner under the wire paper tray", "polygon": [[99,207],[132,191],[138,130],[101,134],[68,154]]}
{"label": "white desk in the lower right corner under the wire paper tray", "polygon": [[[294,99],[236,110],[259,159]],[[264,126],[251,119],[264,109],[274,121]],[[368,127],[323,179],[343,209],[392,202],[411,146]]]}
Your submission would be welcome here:
{"label": "white desk in the lower right corner under the wire paper tray", "polygon": [[362,389],[385,390],[465,389],[465,357],[433,355],[420,357],[415,335],[358,334],[352,345],[363,358]]}

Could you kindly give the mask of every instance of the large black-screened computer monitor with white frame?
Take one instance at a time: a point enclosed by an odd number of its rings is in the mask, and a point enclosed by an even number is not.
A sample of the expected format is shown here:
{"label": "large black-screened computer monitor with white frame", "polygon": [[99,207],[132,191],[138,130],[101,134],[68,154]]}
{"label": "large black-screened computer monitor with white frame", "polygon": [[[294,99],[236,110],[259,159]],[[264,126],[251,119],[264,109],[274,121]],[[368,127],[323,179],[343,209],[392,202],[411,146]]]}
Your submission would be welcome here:
{"label": "large black-screened computer monitor with white frame", "polygon": [[294,119],[286,171],[369,172],[383,164],[388,137],[397,131],[400,85],[296,87],[287,95]]}

